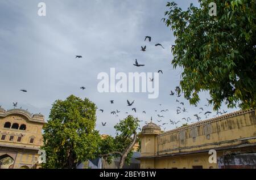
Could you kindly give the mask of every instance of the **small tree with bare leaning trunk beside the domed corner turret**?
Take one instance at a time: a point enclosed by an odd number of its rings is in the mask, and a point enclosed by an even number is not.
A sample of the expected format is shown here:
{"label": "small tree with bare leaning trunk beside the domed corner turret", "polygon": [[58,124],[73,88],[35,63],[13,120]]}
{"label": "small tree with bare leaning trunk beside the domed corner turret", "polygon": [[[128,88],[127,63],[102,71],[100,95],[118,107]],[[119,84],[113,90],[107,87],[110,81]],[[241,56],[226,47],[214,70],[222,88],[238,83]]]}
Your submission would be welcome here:
{"label": "small tree with bare leaning trunk beside the domed corner turret", "polygon": [[125,162],[130,163],[133,156],[134,144],[138,141],[137,128],[139,127],[139,119],[129,115],[117,125],[114,126],[116,136],[108,136],[101,142],[101,157],[109,164],[114,157],[120,157],[119,169],[123,168]]}

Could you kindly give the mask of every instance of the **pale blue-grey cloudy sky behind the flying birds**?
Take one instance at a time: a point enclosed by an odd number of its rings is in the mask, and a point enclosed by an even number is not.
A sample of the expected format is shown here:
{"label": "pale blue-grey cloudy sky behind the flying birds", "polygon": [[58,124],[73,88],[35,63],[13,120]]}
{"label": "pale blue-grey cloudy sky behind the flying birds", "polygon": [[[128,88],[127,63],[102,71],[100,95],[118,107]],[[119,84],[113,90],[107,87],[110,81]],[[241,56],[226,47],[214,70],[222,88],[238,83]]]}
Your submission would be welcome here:
{"label": "pale blue-grey cloudy sky behind the flying birds", "polygon": [[[38,15],[39,2],[46,3],[46,16]],[[160,21],[167,10],[166,3],[159,0],[0,1],[0,105],[12,109],[13,102],[18,102],[18,108],[34,114],[40,112],[47,121],[55,100],[65,100],[70,95],[87,97],[98,109],[104,109],[103,113],[97,110],[96,129],[110,135],[115,134],[114,125],[119,119],[127,117],[126,112],[143,121],[141,127],[151,117],[158,125],[169,123],[162,127],[164,131],[181,126],[185,123],[182,118],[191,117],[191,122],[195,122],[193,114],[201,112],[200,107],[204,112],[212,111],[212,106],[204,106],[209,93],[200,93],[197,107],[189,105],[183,96],[169,95],[179,85],[182,70],[174,70],[171,65],[170,47],[175,37]],[[197,1],[177,1],[183,9],[190,3],[198,6]],[[151,42],[144,41],[145,36],[151,36]],[[156,43],[164,49],[155,46]],[[144,45],[146,52],[141,51]],[[135,59],[145,66],[133,66]],[[98,92],[97,76],[100,72],[110,75],[110,68],[126,74],[162,70],[159,97],[149,99],[148,93]],[[86,89],[80,89],[81,86]],[[176,99],[184,102],[188,112],[176,114],[177,106],[183,108]],[[126,100],[134,100],[133,106],[127,106]],[[137,113],[131,108],[137,108]],[[168,112],[160,112],[163,109]],[[236,110],[225,105],[221,109]],[[116,110],[121,111],[118,117],[110,114]],[[159,118],[157,114],[164,117]],[[213,115],[216,113],[208,118]],[[205,119],[204,115],[201,118]],[[170,125],[169,119],[180,122]]]}

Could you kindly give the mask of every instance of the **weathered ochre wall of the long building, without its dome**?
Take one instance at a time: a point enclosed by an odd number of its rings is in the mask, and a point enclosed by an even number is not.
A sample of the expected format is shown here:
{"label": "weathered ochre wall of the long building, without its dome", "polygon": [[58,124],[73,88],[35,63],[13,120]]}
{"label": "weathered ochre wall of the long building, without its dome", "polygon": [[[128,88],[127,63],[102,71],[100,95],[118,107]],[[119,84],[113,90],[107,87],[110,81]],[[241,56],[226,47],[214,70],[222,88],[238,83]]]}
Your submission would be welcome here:
{"label": "weathered ochre wall of the long building, without its dome", "polygon": [[163,132],[155,136],[156,147],[146,145],[148,136],[141,135],[141,168],[192,168],[196,164],[217,168],[217,164],[209,164],[207,150],[216,149],[220,155],[220,149],[256,143],[255,110],[241,110]]}

